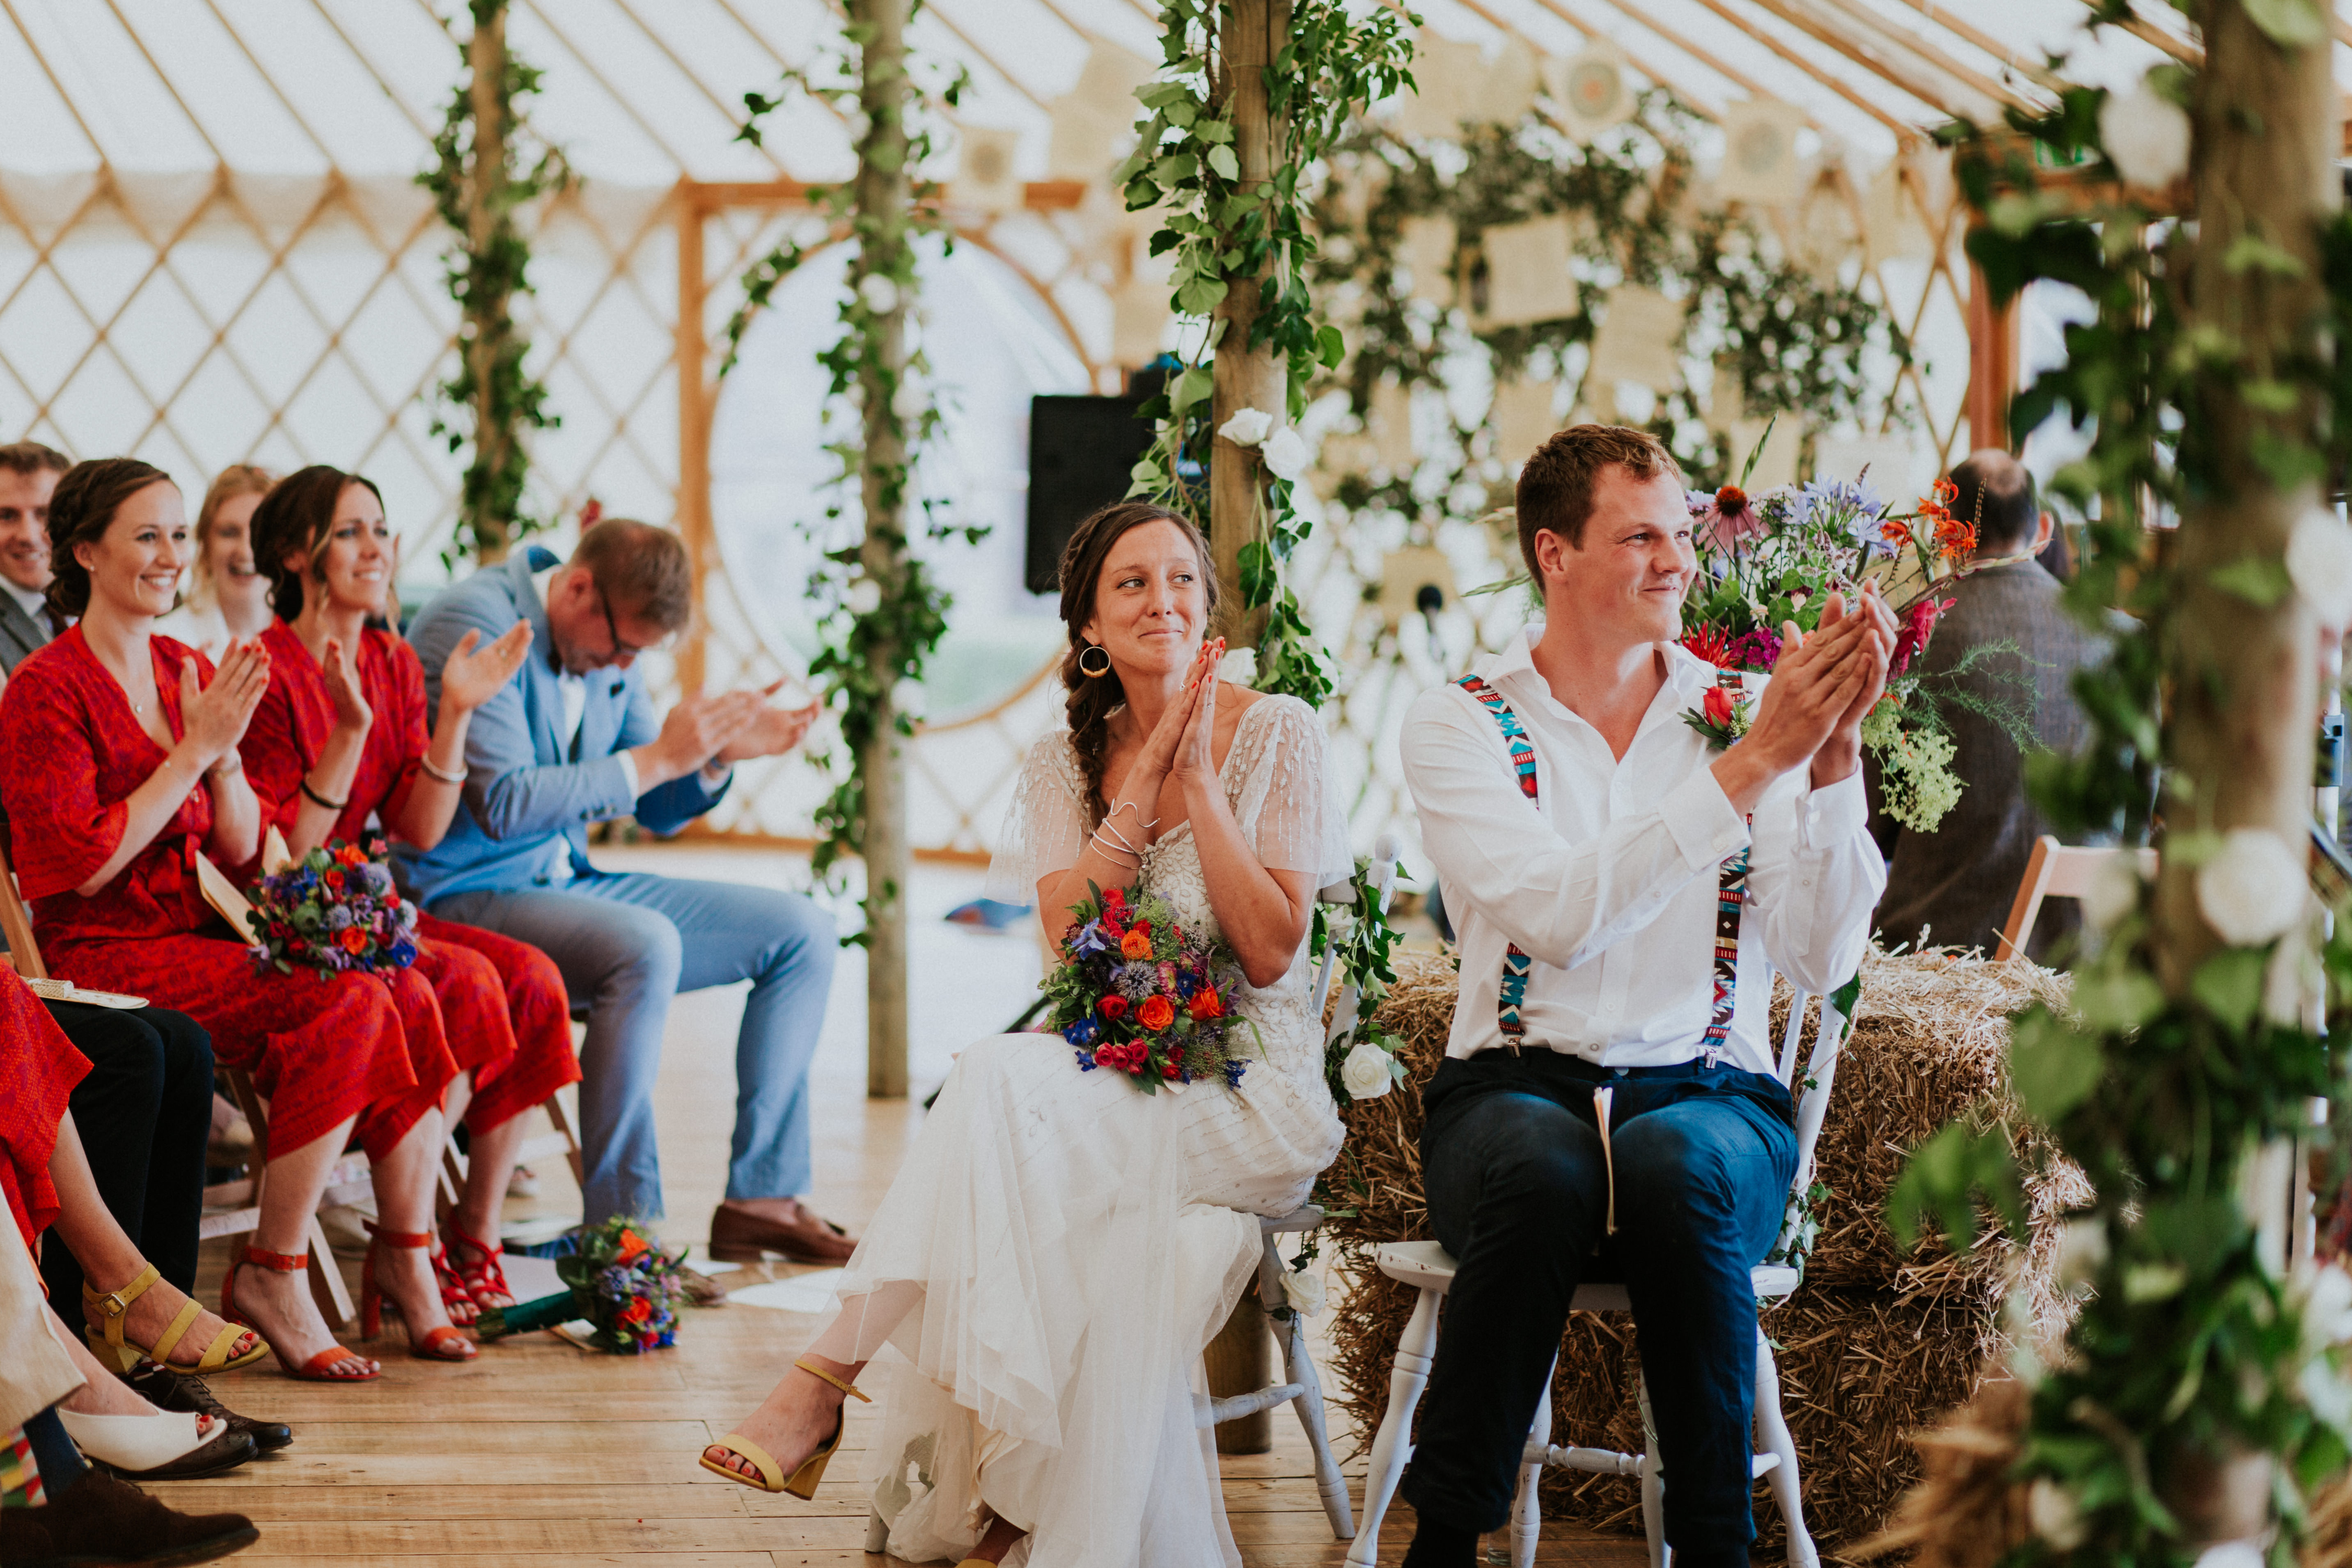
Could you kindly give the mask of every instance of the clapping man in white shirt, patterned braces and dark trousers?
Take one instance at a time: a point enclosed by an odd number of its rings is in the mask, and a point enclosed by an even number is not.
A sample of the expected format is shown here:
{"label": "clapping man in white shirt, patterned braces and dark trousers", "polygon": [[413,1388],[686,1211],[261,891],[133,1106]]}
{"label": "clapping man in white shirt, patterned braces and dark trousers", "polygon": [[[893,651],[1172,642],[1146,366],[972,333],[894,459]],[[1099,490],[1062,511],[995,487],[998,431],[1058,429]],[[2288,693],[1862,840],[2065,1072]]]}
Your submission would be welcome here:
{"label": "clapping man in white shirt, patterned braces and dark trousers", "polygon": [[1404,1561],[1468,1568],[1501,1528],[1569,1298],[1623,1279],[1675,1563],[1745,1568],[1748,1269],[1797,1164],[1771,976],[1830,992],[1860,961],[1886,879],[1860,724],[1893,618],[1832,597],[1745,738],[1712,750],[1682,722],[1719,677],[1677,642],[1698,564],[1665,447],[1618,425],[1552,435],[1519,475],[1519,550],[1543,621],[1404,724],[1461,933],[1421,1145],[1430,1222],[1461,1267],[1404,1481],[1421,1516]]}

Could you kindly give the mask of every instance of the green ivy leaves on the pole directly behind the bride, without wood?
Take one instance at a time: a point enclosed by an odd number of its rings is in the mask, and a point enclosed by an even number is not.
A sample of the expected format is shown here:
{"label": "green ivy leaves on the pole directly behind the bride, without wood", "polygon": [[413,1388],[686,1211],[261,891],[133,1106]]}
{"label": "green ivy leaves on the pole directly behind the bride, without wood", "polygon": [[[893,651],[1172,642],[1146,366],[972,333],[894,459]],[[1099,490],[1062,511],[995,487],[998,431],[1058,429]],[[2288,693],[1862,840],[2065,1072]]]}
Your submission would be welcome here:
{"label": "green ivy leaves on the pole directly behind the bride, without wood", "polygon": [[[1317,367],[1336,367],[1341,334],[1319,320],[1308,289],[1315,235],[1308,226],[1317,162],[1374,101],[1411,85],[1406,24],[1418,16],[1376,9],[1352,19],[1345,0],[1301,0],[1289,38],[1265,66],[1272,125],[1272,179],[1242,183],[1230,106],[1218,92],[1218,0],[1164,0],[1162,80],[1136,96],[1148,115],[1136,125],[1136,153],[1120,165],[1127,209],[1157,207],[1155,256],[1171,254],[1171,303],[1183,317],[1209,317],[1235,280],[1263,280],[1249,348],[1270,348],[1289,376],[1287,414],[1305,411]],[[1197,355],[1169,376],[1162,397],[1143,407],[1157,440],[1136,465],[1131,496],[1181,508],[1207,534],[1204,487],[1185,480],[1209,465],[1211,355],[1225,322],[1202,331]],[[1272,414],[1272,409],[1265,409]],[[1242,609],[1265,614],[1256,646],[1258,691],[1287,691],[1319,708],[1331,675],[1298,597],[1282,567],[1308,536],[1310,522],[1291,505],[1291,480],[1270,454],[1261,463],[1258,529],[1242,548]]]}

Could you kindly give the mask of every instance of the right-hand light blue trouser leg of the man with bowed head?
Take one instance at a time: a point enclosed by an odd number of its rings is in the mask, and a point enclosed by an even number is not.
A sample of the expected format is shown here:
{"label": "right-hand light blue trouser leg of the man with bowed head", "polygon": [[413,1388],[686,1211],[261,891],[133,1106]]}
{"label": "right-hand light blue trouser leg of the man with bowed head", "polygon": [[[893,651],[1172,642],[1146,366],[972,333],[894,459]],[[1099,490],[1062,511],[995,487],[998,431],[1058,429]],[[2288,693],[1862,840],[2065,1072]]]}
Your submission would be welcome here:
{"label": "right-hand light blue trouser leg of the man with bowed head", "polygon": [[663,914],[684,950],[677,990],[750,980],[736,1030],[736,1124],[727,1197],[795,1197],[811,1185],[809,1063],[826,1027],[833,917],[809,898],[734,882],[644,872],[574,884],[616,905]]}

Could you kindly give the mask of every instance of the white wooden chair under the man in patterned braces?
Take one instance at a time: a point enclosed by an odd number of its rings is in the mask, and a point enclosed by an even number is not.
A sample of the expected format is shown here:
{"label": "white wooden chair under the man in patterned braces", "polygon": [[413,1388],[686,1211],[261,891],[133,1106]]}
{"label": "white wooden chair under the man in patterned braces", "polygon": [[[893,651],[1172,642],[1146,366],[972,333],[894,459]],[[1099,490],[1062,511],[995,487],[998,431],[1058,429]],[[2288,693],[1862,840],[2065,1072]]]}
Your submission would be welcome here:
{"label": "white wooden chair under the man in patterned braces", "polygon": [[[1804,1013],[1811,999],[1804,992],[1790,1004],[1788,1032],[1780,1039],[1778,1074],[1783,1084],[1797,1081],[1797,1044],[1804,1034]],[[1830,1086],[1837,1081],[1837,1053],[1842,1048],[1844,1018],[1820,999],[1820,1030],[1806,1060],[1806,1091],[1797,1100],[1797,1178],[1790,1182],[1788,1213],[1780,1222],[1780,1244],[1790,1241],[1792,1227],[1802,1220],[1802,1197],[1813,1185],[1813,1145],[1820,1140],[1820,1121],[1830,1110]],[[1773,1248],[1780,1251],[1780,1248]],[[1437,1241],[1390,1241],[1374,1253],[1376,1267],[1399,1284],[1416,1286],[1421,1300],[1404,1324],[1397,1342],[1397,1363],[1388,1380],[1388,1410],[1381,1429],[1371,1439],[1371,1467],[1364,1476],[1364,1530],[1348,1549],[1348,1568],[1371,1568],[1378,1561],[1381,1516],[1388,1514],[1397,1495],[1397,1479],[1414,1455],[1414,1410],[1421,1406],[1421,1389],[1430,1380],[1430,1359],[1437,1352],[1437,1302],[1454,1286],[1454,1258]],[[1752,1269],[1759,1307],[1785,1300],[1797,1288],[1797,1269],[1790,1265],[1757,1265]],[[1630,1312],[1625,1286],[1613,1281],[1590,1281],[1576,1288],[1569,1312]],[[1642,1528],[1649,1535],[1651,1568],[1665,1568],[1672,1552],[1665,1544],[1663,1462],[1656,1455],[1658,1429],[1649,1413],[1649,1387],[1637,1385],[1642,1403],[1642,1436],[1651,1453],[1613,1453],[1609,1448],[1555,1448],[1552,1446],[1552,1378],[1543,1378],[1543,1396],[1536,1401],[1536,1420],[1526,1434],[1526,1450],[1519,1467],[1519,1493],[1510,1505],[1510,1561],[1512,1568],[1529,1568],[1536,1561],[1536,1533],[1543,1512],[1536,1497],[1536,1481],[1545,1465],[1559,1469],[1583,1469],[1604,1476],[1639,1476],[1642,1481]],[[1769,1476],[1773,1500],[1788,1521],[1788,1561],[1792,1568],[1820,1568],[1820,1552],[1804,1528],[1804,1507],[1797,1486],[1797,1443],[1790,1439],[1788,1420],[1780,1415],[1780,1368],[1771,1354],[1771,1340],[1757,1328],[1757,1432],[1755,1476]]]}

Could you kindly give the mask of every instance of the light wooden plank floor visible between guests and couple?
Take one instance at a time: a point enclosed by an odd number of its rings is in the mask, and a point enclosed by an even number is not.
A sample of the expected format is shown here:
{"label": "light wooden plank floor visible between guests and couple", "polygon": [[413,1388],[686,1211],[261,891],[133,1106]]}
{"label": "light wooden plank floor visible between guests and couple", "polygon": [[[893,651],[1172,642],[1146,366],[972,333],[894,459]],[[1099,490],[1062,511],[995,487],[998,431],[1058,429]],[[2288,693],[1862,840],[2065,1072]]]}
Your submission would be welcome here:
{"label": "light wooden plank floor visible between guests and couple", "polygon": [[[630,851],[607,856],[626,870],[713,875],[701,851]],[[729,853],[715,875],[757,875],[790,884],[790,863]],[[746,867],[753,867],[750,872]],[[767,867],[767,870],[760,870]],[[927,870],[917,884],[936,872]],[[978,891],[948,886],[931,900]],[[915,889],[924,903],[924,889]],[[917,917],[924,910],[917,907]],[[931,917],[936,919],[936,914]],[[917,973],[974,997],[967,1011],[983,1034],[1011,1018],[1035,985],[1035,950],[1025,933],[983,938],[917,933],[936,950],[917,954]],[[1028,964],[1023,973],[1023,964]],[[995,987],[995,990],[990,990]],[[1002,992],[1002,994],[1000,994]],[[731,1041],[743,987],[682,997],[670,1013],[656,1112],[673,1244],[701,1241],[724,1182],[724,1135],[734,1114]],[[920,1110],[908,1100],[866,1100],[863,971],[856,950],[842,954],[833,1013],[818,1048],[816,1201],[849,1225],[880,1204]],[[844,1018],[844,1011],[851,1016]],[[1000,1018],[1002,1013],[1002,1018]],[[917,1025],[924,1004],[917,999]],[[946,1048],[917,1051],[917,1098],[946,1072]],[[927,1081],[929,1074],[929,1081]],[[541,1166],[543,1194],[508,1206],[508,1222],[579,1213],[569,1173]],[[329,1229],[355,1241],[350,1225]],[[202,1284],[219,1288],[228,1246],[205,1244]],[[358,1286],[358,1253],[343,1258]],[[790,1269],[776,1267],[776,1274]],[[755,1276],[739,1274],[734,1284]],[[397,1324],[390,1326],[397,1333]],[[706,1474],[701,1448],[748,1413],[814,1333],[814,1319],[729,1305],[689,1312],[675,1349],[649,1356],[595,1356],[550,1335],[522,1335],[482,1347],[468,1366],[412,1361],[397,1340],[367,1352],[383,1378],[360,1387],[292,1382],[263,1363],[214,1380],[230,1408],[292,1422],[294,1446],[209,1481],[155,1486],[172,1507],[242,1512],[261,1542],[235,1561],[320,1563],[332,1568],[588,1568],[654,1563],[659,1568],[884,1568],[868,1556],[863,1443],[877,1415],[851,1406],[842,1455],[811,1502],[771,1497]],[[1327,1387],[1336,1382],[1324,1361]],[[1338,1422],[1345,1455],[1355,1439]],[[1350,1502],[1362,1505],[1362,1460],[1345,1465]],[[1289,1410],[1275,1413],[1275,1446],[1261,1455],[1225,1455],[1225,1512],[1249,1568],[1338,1568],[1345,1544],[1331,1540],[1312,1481],[1312,1455]],[[1399,1507],[1381,1533],[1381,1563],[1402,1561],[1411,1512]],[[1489,1537],[1489,1561],[1503,1563],[1503,1537]],[[1642,1568],[1632,1537],[1595,1537],[1548,1526],[1538,1563]]]}

